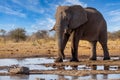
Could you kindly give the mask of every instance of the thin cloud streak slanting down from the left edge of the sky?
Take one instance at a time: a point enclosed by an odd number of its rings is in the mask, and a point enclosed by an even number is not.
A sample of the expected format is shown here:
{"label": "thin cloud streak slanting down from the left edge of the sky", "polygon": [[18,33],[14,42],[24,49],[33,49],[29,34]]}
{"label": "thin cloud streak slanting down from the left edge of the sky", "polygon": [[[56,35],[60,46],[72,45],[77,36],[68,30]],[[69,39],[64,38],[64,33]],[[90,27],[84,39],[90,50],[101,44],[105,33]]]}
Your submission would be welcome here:
{"label": "thin cloud streak slanting down from the left edge of the sky", "polygon": [[6,6],[0,6],[0,12],[5,13],[5,14],[10,14],[10,15],[16,15],[19,17],[26,17],[24,13],[21,13],[20,11],[13,10],[9,7]]}

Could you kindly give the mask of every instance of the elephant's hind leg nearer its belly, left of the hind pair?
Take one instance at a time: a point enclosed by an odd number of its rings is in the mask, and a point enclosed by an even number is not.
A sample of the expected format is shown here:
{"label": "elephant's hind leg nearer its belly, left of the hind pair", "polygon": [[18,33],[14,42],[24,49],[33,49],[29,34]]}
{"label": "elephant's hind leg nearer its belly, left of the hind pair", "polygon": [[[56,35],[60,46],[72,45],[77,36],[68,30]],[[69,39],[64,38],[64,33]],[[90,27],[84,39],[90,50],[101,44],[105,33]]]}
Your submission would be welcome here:
{"label": "elephant's hind leg nearer its belly, left of the hind pair", "polygon": [[90,60],[96,60],[96,43],[97,41],[91,41],[91,57]]}

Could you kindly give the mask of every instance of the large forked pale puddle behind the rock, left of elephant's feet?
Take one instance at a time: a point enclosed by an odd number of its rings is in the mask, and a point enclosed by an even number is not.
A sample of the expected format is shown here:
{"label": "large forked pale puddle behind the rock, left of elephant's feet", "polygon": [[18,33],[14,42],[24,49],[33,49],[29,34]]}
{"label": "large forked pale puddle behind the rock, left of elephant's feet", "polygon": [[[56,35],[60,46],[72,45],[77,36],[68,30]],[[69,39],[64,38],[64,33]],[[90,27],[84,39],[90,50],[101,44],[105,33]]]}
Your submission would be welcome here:
{"label": "large forked pale puddle behind the rock, left of elephant's feet", "polygon": [[[43,65],[34,65],[34,64],[43,64],[43,63],[53,63],[54,59],[52,58],[18,58],[18,59],[0,59],[0,66],[25,66],[29,67],[30,70],[40,69],[40,70],[49,70],[53,69],[52,67],[45,67]],[[0,70],[1,72],[1,70]]]}

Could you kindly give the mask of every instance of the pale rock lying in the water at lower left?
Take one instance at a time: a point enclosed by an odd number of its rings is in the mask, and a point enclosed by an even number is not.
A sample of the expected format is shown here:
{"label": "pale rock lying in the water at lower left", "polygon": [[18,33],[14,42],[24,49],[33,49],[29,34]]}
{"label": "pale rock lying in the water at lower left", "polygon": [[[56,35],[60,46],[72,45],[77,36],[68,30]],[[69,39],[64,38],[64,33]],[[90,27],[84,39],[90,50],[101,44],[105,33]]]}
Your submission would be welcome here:
{"label": "pale rock lying in the water at lower left", "polygon": [[10,68],[8,71],[10,74],[29,74],[28,67],[14,67]]}

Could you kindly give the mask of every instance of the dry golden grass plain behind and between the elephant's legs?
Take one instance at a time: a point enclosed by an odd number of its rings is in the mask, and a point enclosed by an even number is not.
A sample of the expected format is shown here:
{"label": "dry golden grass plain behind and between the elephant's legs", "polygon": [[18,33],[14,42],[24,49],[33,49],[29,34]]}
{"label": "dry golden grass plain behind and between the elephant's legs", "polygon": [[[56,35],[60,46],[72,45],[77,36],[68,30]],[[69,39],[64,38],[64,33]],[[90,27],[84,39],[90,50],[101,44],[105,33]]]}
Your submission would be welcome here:
{"label": "dry golden grass plain behind and between the elephant's legs", "polygon": [[[65,55],[71,55],[71,43],[68,42],[65,48]],[[120,40],[109,40],[108,48],[111,56],[120,56]],[[79,55],[90,56],[90,44],[87,41],[80,41]],[[54,40],[40,39],[33,42],[13,43],[7,42],[4,44],[0,42],[0,58],[5,57],[38,57],[38,56],[56,56],[57,46]],[[98,56],[103,56],[101,45],[97,44]]]}

